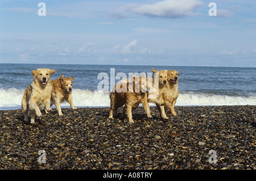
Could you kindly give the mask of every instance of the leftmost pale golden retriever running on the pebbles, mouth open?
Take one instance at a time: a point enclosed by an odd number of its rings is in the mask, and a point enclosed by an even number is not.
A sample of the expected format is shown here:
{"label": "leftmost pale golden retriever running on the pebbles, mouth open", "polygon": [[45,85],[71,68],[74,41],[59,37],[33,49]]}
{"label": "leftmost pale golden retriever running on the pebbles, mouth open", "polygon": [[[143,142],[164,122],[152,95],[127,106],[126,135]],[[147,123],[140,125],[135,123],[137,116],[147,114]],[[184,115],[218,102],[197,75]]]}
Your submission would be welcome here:
{"label": "leftmost pale golden retriever running on the pebbles, mouth open", "polygon": [[28,121],[28,109],[32,111],[31,124],[35,123],[35,116],[42,116],[40,108],[45,108],[51,111],[50,99],[52,84],[50,76],[56,70],[51,69],[37,69],[32,70],[34,81],[24,91],[22,98],[22,112],[24,113],[24,120]]}

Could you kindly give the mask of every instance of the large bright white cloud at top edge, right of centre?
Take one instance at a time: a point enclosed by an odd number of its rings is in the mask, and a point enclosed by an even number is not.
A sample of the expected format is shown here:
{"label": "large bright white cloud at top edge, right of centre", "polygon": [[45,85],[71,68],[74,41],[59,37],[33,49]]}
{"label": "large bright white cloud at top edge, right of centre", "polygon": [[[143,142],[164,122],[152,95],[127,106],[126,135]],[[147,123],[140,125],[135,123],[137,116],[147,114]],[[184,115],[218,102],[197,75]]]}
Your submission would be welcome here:
{"label": "large bright white cloud at top edge, right of centre", "polygon": [[203,4],[199,0],[166,0],[152,5],[138,6],[133,11],[147,16],[178,18],[181,16],[199,15],[199,13],[193,12],[193,10]]}

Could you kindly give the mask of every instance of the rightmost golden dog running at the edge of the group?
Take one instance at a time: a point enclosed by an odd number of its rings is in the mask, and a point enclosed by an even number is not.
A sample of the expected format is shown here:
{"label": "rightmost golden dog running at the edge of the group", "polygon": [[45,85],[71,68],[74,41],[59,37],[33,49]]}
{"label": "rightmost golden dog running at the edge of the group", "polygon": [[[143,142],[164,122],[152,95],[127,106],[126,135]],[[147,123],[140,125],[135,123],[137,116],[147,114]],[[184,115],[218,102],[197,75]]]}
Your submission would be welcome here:
{"label": "rightmost golden dog running at the edge of the group", "polygon": [[[179,96],[178,91],[178,77],[179,73],[176,70],[169,70],[168,71],[168,83],[167,86],[164,88],[163,92],[163,99],[164,99],[164,107],[170,111],[172,115],[176,116],[177,113],[174,110],[174,106]],[[167,112],[167,113],[168,113]]]}

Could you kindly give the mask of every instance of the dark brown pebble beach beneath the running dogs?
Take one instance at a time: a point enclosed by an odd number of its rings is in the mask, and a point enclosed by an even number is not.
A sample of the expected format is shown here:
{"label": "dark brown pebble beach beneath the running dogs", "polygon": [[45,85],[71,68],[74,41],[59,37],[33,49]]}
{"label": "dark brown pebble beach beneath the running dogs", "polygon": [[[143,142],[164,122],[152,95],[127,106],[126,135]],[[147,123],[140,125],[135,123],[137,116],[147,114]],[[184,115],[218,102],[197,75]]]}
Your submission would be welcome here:
{"label": "dark brown pebble beach beneath the running dogs", "polygon": [[167,121],[150,110],[152,119],[135,109],[134,124],[108,119],[109,107],[62,108],[62,117],[53,108],[35,124],[21,110],[2,110],[0,169],[256,169],[256,106],[177,106]]}

